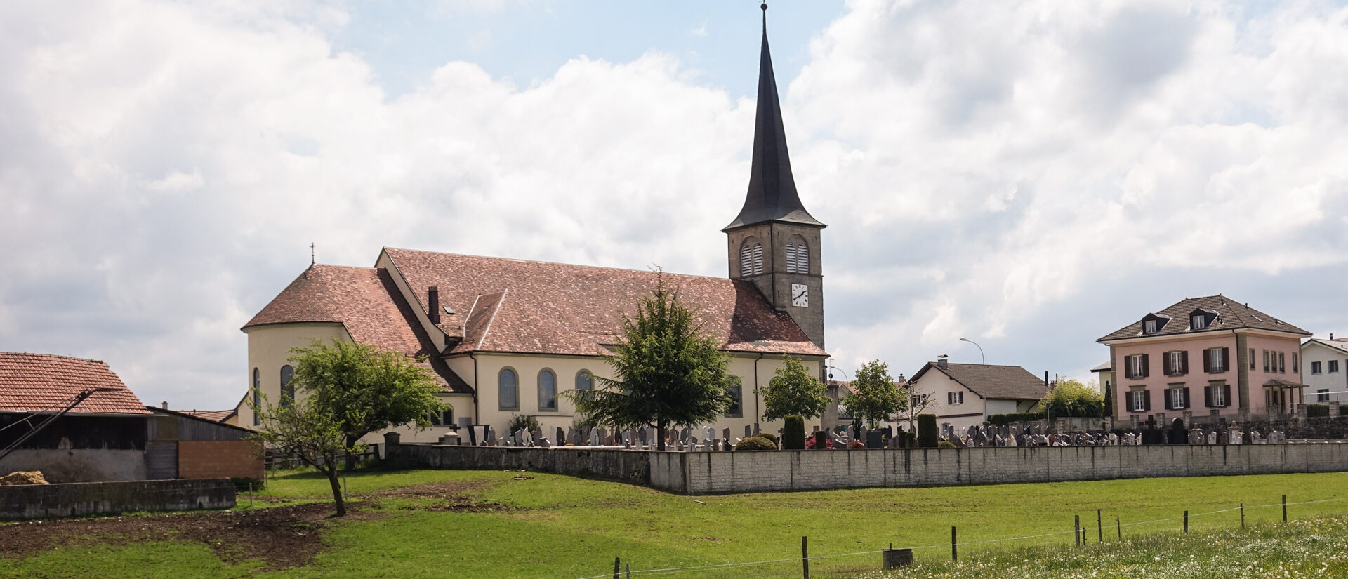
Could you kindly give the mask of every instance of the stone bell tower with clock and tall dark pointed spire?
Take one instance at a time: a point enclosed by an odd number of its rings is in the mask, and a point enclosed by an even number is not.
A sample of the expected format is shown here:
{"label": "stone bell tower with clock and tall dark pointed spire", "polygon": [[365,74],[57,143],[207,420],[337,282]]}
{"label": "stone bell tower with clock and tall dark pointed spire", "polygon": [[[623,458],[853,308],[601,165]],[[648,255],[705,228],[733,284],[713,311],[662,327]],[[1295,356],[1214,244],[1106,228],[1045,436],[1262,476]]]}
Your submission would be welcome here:
{"label": "stone bell tower with clock and tall dark pointed spire", "polygon": [[824,349],[824,275],[820,232],[825,228],[801,205],[786,149],[782,105],[767,47],[767,4],[759,57],[758,112],[749,189],[739,217],[727,225],[731,279],[754,283]]}

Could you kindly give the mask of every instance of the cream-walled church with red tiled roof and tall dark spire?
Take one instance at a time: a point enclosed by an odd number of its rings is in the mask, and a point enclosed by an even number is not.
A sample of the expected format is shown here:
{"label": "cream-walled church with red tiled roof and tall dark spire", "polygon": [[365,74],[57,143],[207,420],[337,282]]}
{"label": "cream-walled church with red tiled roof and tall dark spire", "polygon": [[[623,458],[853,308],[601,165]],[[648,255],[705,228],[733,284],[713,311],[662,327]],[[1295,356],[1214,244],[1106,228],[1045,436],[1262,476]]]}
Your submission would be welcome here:
{"label": "cream-walled church with red tiled roof and tall dark spire", "polygon": [[[723,229],[728,277],[663,273],[741,381],[729,412],[697,427],[729,428],[733,436],[747,427],[780,427],[762,420],[755,392],[783,357],[801,360],[821,381],[828,366],[825,225],[805,210],[791,175],[766,23],[756,106],[744,206]],[[534,416],[549,432],[568,428],[580,417],[558,395],[593,388],[590,374],[612,376],[603,355],[619,341],[623,314],[635,312],[656,281],[650,271],[395,248],[383,248],[371,268],[314,264],[243,327],[248,397],[291,393],[290,349],[334,338],[423,358],[418,364],[441,382],[452,409],[434,417],[438,427],[400,428],[406,442],[435,440],[449,424],[487,424],[500,434],[518,415]],[[257,423],[247,397],[237,412],[239,424]],[[822,421],[836,421],[836,407]]]}

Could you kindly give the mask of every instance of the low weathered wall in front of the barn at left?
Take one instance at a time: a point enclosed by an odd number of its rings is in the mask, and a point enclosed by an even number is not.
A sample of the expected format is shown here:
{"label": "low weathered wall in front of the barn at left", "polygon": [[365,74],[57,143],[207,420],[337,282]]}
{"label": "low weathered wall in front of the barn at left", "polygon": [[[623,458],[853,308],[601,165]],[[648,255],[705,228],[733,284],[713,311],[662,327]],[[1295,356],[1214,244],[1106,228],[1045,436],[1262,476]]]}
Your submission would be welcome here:
{"label": "low weathered wall in front of the barn at left", "polygon": [[232,506],[235,485],[226,478],[0,486],[0,520],[5,521]]}

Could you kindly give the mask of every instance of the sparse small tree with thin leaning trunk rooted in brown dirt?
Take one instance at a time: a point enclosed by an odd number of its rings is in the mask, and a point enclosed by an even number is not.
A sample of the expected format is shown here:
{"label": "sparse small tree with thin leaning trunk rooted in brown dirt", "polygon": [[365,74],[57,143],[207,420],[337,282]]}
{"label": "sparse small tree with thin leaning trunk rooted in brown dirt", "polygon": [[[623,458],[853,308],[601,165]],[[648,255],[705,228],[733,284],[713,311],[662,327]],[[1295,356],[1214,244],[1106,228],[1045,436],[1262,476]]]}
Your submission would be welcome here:
{"label": "sparse small tree with thin leaning trunk rooted in brown dirt", "polygon": [[345,516],[346,504],[342,501],[341,482],[337,481],[337,458],[360,452],[364,446],[349,444],[337,416],[317,404],[313,397],[275,405],[267,404],[266,399],[257,405],[251,400],[248,404],[260,419],[260,424],[253,428],[249,438],[287,456],[299,456],[301,462],[328,477],[337,516]]}

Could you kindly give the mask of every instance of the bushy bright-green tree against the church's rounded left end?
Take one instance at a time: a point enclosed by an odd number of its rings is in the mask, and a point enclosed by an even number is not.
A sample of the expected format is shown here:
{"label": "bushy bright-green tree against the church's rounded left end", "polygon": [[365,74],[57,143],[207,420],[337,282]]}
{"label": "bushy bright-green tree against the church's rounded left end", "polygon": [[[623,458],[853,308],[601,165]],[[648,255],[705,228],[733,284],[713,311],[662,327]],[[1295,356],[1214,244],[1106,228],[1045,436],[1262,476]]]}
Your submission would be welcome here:
{"label": "bushy bright-green tree against the church's rounded left end", "polygon": [[[332,413],[346,447],[392,425],[426,428],[431,412],[449,408],[435,397],[441,390],[435,377],[402,353],[338,339],[315,339],[290,351],[295,397],[307,396],[317,409]],[[350,470],[353,455],[345,458]]]}

